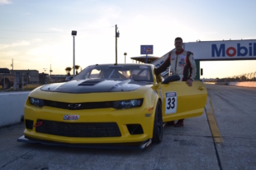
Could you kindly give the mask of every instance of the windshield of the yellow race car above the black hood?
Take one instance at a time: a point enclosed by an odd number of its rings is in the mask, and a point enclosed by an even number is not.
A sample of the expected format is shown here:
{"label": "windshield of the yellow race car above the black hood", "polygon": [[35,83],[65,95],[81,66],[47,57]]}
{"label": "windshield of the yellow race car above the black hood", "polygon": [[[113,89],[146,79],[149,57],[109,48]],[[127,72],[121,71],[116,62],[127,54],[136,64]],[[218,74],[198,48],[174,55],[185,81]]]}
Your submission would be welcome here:
{"label": "windshield of the yellow race car above the black hood", "polygon": [[90,66],[75,76],[73,80],[85,79],[114,79],[154,82],[150,66],[123,65],[123,66]]}

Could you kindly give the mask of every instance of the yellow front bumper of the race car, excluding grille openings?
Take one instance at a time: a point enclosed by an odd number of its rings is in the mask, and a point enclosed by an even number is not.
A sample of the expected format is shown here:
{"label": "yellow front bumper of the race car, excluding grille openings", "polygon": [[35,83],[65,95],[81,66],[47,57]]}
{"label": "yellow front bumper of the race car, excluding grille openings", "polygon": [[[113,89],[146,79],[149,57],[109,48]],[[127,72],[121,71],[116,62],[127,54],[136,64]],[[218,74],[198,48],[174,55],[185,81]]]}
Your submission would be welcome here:
{"label": "yellow front bumper of the race car, excluding grille openings", "polygon": [[[152,106],[150,106],[152,107]],[[32,121],[33,125],[39,120],[50,122],[64,123],[109,123],[114,122],[120,130],[120,136],[61,136],[57,134],[48,134],[36,131],[36,127],[32,126],[24,131],[24,136],[28,139],[36,139],[40,141],[52,141],[60,144],[73,145],[109,145],[109,144],[137,144],[152,139],[154,111],[149,112],[149,103],[144,103],[140,108],[114,109],[100,108],[87,110],[67,110],[61,108],[43,107],[37,108],[32,106],[29,100],[25,105],[25,122]],[[64,120],[65,115],[79,115],[78,120]],[[147,115],[147,116],[145,116]],[[44,122],[44,121],[43,121]],[[140,124],[143,129],[142,134],[130,134],[128,125]],[[73,131],[73,130],[72,130]],[[34,140],[33,140],[34,141]]]}

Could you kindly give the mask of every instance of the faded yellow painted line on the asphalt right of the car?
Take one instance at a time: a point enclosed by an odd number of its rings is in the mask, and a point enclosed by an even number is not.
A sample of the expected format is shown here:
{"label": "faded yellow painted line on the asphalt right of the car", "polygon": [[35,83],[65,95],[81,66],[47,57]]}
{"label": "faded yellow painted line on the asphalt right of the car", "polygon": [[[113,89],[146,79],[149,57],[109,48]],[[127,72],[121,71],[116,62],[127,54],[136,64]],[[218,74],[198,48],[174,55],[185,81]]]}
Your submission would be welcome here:
{"label": "faded yellow painted line on the asphalt right of the car", "polygon": [[206,103],[206,115],[208,118],[209,126],[211,129],[211,135],[213,137],[213,140],[216,144],[223,143],[224,140],[222,139],[222,136],[220,134],[219,127],[216,123],[216,117],[214,115],[214,109],[211,103],[211,98],[208,96],[207,103]]}

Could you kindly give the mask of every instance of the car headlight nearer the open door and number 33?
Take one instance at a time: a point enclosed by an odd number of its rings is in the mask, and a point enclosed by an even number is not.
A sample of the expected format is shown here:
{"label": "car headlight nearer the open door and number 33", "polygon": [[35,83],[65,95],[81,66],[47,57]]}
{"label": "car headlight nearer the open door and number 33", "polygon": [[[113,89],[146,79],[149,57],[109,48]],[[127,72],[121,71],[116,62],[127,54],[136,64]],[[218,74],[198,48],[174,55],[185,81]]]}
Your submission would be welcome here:
{"label": "car headlight nearer the open door and number 33", "polygon": [[122,108],[136,108],[140,107],[143,103],[143,99],[130,99],[130,100],[121,100],[114,102],[113,108],[122,109]]}

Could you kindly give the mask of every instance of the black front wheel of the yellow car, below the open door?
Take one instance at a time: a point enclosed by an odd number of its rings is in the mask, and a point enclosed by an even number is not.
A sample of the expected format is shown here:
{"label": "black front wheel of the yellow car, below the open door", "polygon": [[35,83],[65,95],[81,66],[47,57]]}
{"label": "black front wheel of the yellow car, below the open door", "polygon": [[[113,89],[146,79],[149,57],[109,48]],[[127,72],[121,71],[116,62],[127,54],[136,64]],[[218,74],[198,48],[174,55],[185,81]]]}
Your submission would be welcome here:
{"label": "black front wheel of the yellow car, below the open door", "polygon": [[157,103],[154,114],[153,143],[159,144],[163,139],[163,115],[162,105]]}

